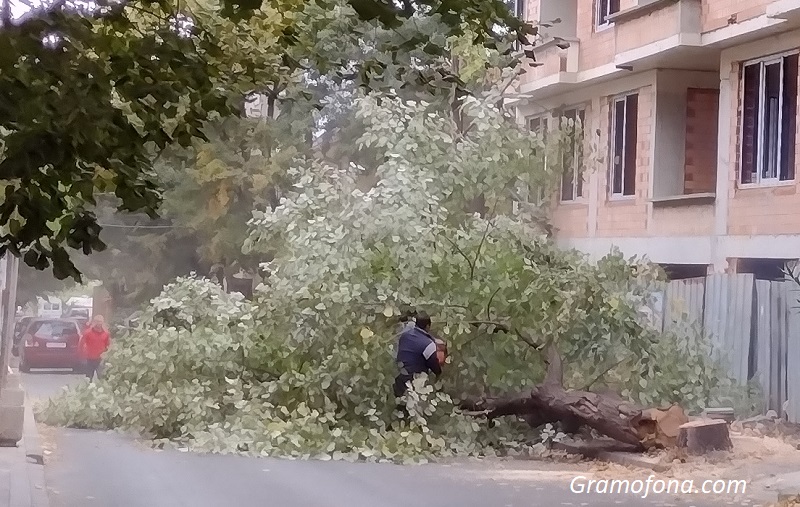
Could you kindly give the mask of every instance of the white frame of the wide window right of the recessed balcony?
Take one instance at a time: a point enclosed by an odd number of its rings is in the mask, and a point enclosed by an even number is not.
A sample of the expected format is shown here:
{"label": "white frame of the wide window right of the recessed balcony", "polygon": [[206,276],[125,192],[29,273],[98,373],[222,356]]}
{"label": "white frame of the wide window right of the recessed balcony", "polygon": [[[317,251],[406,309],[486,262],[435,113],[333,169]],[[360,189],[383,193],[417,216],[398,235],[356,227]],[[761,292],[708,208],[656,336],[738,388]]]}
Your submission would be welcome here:
{"label": "white frame of the wide window right of the recessed balcony", "polygon": [[[784,115],[784,99],[785,97],[785,74],[786,74],[786,65],[785,59],[789,56],[797,56],[798,57],[798,70],[797,73],[800,75],[800,51],[797,49],[784,51],[781,53],[774,53],[766,56],[762,56],[759,58],[754,58],[751,60],[745,60],[740,62],[740,76],[739,76],[739,111],[738,111],[738,143],[737,143],[737,156],[738,156],[738,164],[737,164],[737,177],[736,177],[736,185],[738,188],[762,188],[762,187],[775,187],[775,186],[784,186],[784,185],[794,185],[797,181],[797,170],[796,168],[789,168],[790,177],[787,179],[781,179],[781,162],[783,160],[783,115]],[[780,65],[780,77],[779,77],[779,104],[778,104],[778,133],[777,133],[777,140],[778,140],[778,148],[777,148],[777,157],[776,157],[776,176],[774,178],[765,178],[763,177],[763,170],[764,170],[764,156],[766,147],[764,145],[764,140],[767,137],[766,129],[764,120],[766,117],[766,106],[765,106],[765,96],[766,96],[766,68],[768,65],[774,64]],[[752,178],[751,181],[745,183],[743,181],[744,178],[744,141],[745,141],[745,77],[746,72],[745,69],[747,67],[752,67],[754,65],[759,66],[759,79],[758,79],[758,111],[757,111],[757,132],[756,132],[756,150],[755,150],[755,177]],[[800,100],[798,100],[798,93],[800,93],[800,84],[797,82],[795,83],[795,118],[797,118],[798,106],[800,106]],[[797,119],[795,119],[795,131],[797,129]],[[796,145],[798,139],[796,135],[794,136],[794,144]],[[794,158],[794,157],[791,157]],[[791,162],[790,162],[791,163]],[[796,165],[796,160],[794,161],[794,165]]]}

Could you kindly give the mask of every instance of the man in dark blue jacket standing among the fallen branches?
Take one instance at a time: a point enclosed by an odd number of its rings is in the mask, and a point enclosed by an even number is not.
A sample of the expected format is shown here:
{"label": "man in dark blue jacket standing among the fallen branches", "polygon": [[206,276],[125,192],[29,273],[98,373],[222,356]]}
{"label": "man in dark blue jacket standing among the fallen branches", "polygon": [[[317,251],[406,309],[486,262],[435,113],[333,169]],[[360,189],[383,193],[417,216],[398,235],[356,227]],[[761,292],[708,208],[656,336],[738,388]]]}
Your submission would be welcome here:
{"label": "man in dark blue jacket standing among the fallen branches", "polygon": [[439,364],[436,340],[430,335],[431,318],[418,313],[416,324],[409,326],[400,334],[397,344],[397,362],[400,374],[394,380],[394,395],[405,394],[406,382],[418,373],[440,375],[442,365]]}

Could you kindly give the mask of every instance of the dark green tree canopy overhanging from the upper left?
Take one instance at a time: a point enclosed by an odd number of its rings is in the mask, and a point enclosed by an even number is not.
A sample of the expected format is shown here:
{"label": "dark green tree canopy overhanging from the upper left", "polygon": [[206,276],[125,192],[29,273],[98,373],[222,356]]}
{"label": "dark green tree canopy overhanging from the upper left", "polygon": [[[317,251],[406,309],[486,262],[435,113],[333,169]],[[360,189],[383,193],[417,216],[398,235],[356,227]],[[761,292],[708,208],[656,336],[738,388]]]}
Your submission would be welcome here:
{"label": "dark green tree canopy overhanging from the upper left", "polygon": [[[326,30],[347,37],[321,46]],[[78,278],[70,252],[106,246],[97,194],[156,216],[154,158],[205,139],[206,122],[237,114],[246,95],[280,94],[310,71],[370,90],[452,90],[460,80],[444,60],[419,66],[418,55],[446,55],[448,37],[465,33],[492,48],[533,32],[499,0],[57,1],[19,19],[6,12],[0,252]],[[337,52],[353,46],[358,59]]]}

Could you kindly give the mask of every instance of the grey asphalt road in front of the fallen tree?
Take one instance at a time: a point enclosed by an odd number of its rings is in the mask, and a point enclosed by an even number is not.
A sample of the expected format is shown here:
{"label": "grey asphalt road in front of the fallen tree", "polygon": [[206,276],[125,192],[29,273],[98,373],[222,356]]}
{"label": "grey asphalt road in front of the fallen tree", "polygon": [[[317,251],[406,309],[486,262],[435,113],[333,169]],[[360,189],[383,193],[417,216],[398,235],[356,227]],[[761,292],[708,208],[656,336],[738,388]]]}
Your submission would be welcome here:
{"label": "grey asphalt road in front of the fallen tree", "polygon": [[[80,380],[23,375],[36,398]],[[752,505],[698,495],[573,493],[570,481],[586,473],[585,464],[472,460],[404,467],[158,451],[111,432],[48,429],[45,439],[54,445],[45,458],[52,507]]]}

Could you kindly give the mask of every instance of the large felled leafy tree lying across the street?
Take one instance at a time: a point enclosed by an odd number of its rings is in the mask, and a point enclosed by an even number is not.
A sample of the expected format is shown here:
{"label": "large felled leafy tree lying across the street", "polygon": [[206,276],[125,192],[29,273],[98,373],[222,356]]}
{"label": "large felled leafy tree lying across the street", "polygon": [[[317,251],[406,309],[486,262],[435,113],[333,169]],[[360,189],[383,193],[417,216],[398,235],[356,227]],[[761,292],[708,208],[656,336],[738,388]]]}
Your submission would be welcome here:
{"label": "large felled leafy tree lying across the street", "polygon": [[[275,256],[252,303],[179,281],[150,314],[191,329],[153,320],[116,341],[106,380],[56,400],[46,420],[136,428],[203,451],[320,459],[484,455],[544,440],[503,414],[663,445],[672,438],[665,416],[643,407],[706,403],[719,386],[707,350],[643,320],[652,265],[616,253],[590,262],[525,216],[498,211],[509,181],[553,176],[545,146],[513,118],[465,103],[475,120],[459,137],[429,105],[360,101],[360,143],[385,150],[370,168],[379,184],[362,190],[366,169],[354,165],[298,167],[281,206],[254,213],[246,246]],[[481,196],[491,211],[464,213]],[[450,362],[434,385],[419,379],[411,421],[388,431],[406,308],[433,315]],[[535,387],[496,394],[526,386]],[[453,398],[467,394],[467,408],[497,424],[459,413]]]}

